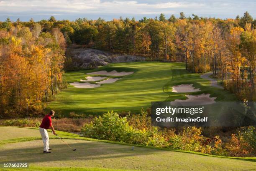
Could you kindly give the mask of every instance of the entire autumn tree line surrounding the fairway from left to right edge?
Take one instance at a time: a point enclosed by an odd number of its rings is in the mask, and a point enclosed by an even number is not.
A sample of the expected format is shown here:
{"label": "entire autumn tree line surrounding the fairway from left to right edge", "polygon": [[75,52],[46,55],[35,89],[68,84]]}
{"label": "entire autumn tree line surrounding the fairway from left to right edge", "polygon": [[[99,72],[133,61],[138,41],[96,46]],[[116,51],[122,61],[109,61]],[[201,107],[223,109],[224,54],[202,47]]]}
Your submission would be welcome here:
{"label": "entire autumn tree line surrounding the fairway from left to right edge", "polygon": [[[255,100],[256,20],[164,14],[155,18],[0,22],[2,112],[40,111],[61,87],[66,45],[184,61],[191,72],[212,71],[240,99]],[[40,104],[40,105],[38,105]],[[39,109],[37,109],[39,108]],[[15,112],[13,112],[15,111]],[[1,112],[1,111],[0,111]]]}

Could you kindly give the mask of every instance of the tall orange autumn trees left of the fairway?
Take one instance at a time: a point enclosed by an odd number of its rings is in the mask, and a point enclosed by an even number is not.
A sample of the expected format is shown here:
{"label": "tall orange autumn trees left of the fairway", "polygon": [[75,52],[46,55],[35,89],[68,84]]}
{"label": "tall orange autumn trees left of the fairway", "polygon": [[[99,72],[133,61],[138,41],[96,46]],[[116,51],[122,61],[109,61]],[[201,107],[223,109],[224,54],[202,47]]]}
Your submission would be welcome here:
{"label": "tall orange autumn trees left of the fairway", "polygon": [[0,24],[0,117],[38,114],[62,86],[66,40],[40,23]]}

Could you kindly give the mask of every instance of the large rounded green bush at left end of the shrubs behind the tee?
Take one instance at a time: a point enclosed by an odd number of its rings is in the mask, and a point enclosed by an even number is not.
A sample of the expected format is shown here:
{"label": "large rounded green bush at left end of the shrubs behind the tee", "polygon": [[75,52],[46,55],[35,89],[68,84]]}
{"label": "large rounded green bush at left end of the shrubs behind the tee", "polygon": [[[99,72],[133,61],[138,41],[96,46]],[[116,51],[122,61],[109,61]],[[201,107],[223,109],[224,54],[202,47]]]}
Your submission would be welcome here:
{"label": "large rounded green bush at left end of the shrubs behind the tee", "polygon": [[164,145],[166,141],[158,134],[156,127],[151,130],[134,129],[129,125],[126,117],[120,117],[113,111],[95,118],[90,124],[86,124],[81,132],[83,136],[95,139],[146,146],[166,146]]}

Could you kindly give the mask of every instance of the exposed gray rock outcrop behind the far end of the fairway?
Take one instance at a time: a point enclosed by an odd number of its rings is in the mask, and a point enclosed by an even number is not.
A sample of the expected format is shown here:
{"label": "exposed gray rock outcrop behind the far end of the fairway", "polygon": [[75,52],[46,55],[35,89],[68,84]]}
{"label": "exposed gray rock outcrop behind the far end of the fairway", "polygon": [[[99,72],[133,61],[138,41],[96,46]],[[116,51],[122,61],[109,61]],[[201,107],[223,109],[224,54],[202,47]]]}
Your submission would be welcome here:
{"label": "exposed gray rock outcrop behind the far end of the fairway", "polygon": [[133,55],[114,55],[89,48],[68,48],[67,56],[72,58],[73,66],[79,69],[93,69],[109,63],[145,61],[144,57]]}

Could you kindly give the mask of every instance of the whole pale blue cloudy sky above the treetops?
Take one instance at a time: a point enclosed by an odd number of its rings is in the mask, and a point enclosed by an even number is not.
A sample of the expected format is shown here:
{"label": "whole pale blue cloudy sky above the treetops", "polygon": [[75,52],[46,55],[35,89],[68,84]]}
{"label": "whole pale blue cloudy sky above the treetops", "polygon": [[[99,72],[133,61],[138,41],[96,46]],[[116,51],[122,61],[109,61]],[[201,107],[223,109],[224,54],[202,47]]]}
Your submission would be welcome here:
{"label": "whole pale blue cloudy sky above the treetops", "polygon": [[75,20],[87,18],[105,20],[113,18],[156,17],[164,13],[166,18],[179,12],[186,17],[195,15],[221,19],[242,16],[248,11],[256,18],[256,0],[0,0],[0,21],[10,17],[28,21],[49,19],[53,15],[57,20]]}

